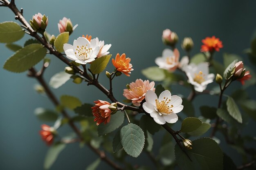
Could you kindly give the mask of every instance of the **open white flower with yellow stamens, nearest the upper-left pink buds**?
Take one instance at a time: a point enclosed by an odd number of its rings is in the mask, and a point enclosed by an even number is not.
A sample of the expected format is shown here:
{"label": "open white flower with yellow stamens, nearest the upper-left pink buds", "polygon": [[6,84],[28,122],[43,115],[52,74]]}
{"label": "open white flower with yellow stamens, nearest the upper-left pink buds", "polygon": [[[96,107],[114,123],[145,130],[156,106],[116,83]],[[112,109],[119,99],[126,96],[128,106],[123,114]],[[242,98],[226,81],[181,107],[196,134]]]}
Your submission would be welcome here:
{"label": "open white flower with yellow stamens, nearest the upper-left pink buds", "polygon": [[95,60],[99,53],[97,40],[88,41],[86,38],[79,37],[74,40],[73,45],[64,44],[63,49],[67,58],[80,64],[86,64]]}

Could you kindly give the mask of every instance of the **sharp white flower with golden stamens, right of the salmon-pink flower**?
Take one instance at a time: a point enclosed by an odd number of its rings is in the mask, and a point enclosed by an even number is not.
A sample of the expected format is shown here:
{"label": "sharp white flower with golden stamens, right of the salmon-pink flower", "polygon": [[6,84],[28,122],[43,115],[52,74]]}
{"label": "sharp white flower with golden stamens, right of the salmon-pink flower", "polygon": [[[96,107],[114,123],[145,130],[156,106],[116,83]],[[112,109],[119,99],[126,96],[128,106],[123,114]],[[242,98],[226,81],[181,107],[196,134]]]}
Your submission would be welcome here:
{"label": "sharp white flower with golden stamens, right of the salmon-pink flower", "polygon": [[175,123],[178,120],[176,113],[183,109],[182,99],[177,95],[171,96],[168,90],[163,91],[158,99],[155,92],[147,91],[145,99],[142,107],[157,124]]}

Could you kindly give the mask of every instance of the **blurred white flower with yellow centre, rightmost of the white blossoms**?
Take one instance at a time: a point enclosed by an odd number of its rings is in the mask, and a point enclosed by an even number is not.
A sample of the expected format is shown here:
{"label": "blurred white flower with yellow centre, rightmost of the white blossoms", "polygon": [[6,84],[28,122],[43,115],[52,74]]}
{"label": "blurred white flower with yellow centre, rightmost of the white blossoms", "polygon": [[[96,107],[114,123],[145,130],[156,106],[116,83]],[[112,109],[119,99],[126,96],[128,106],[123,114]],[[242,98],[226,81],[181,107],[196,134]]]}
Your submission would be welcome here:
{"label": "blurred white flower with yellow centre, rightmost of the white blossoms", "polygon": [[184,67],[184,71],[188,76],[188,82],[194,85],[195,91],[202,92],[206,89],[207,84],[213,82],[214,74],[209,74],[209,66],[207,62],[198,65],[193,63]]}

